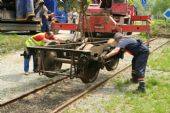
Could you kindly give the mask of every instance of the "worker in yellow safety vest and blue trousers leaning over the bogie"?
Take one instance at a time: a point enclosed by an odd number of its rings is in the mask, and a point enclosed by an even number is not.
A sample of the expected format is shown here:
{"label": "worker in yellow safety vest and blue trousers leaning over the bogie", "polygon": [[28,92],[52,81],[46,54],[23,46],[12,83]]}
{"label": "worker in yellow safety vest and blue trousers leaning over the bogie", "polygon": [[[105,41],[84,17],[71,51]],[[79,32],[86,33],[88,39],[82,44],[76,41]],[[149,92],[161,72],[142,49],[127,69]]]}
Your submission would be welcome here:
{"label": "worker in yellow safety vest and blue trousers leaning over the bogie", "polygon": [[24,50],[24,72],[25,75],[29,74],[29,61],[31,56],[33,56],[33,71],[37,72],[38,61],[36,58],[36,52],[34,50],[28,49],[28,47],[44,46],[46,43],[51,41],[56,41],[59,43],[60,38],[56,37],[53,32],[38,33],[31,38],[28,38],[25,42],[26,48]]}

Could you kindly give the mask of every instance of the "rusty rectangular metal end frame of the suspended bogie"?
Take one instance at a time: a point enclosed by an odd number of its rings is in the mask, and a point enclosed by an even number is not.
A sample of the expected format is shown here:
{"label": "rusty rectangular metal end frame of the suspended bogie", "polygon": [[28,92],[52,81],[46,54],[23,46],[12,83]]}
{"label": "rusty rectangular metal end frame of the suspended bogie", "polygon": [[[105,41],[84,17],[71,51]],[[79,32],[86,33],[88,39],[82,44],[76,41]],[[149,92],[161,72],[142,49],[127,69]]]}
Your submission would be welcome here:
{"label": "rusty rectangular metal end frame of the suspended bogie", "polygon": [[[93,44],[102,44],[105,43],[106,40],[102,41],[96,41],[96,42],[88,42],[93,43]],[[40,47],[28,47],[28,49],[34,50],[38,53],[38,64],[39,64],[39,74],[44,74],[44,73],[51,73],[51,74],[57,74],[57,75],[64,75],[64,76],[69,76],[70,78],[78,77],[78,70],[77,70],[77,65],[79,63],[80,55],[86,55],[89,59],[93,58],[93,54],[90,51],[85,51],[85,50],[76,50],[75,45],[80,45],[82,43],[71,43],[71,44],[61,44],[61,45],[49,45],[49,46],[40,46]],[[68,48],[69,47],[69,48]],[[63,70],[60,71],[47,71],[45,70],[44,66],[44,58],[45,54],[47,51],[55,51],[57,52],[62,52],[65,54],[69,54],[69,56],[64,55],[62,58],[56,57],[54,59],[55,62],[59,61],[62,63],[67,63],[71,64],[69,68],[69,74],[65,73]]]}

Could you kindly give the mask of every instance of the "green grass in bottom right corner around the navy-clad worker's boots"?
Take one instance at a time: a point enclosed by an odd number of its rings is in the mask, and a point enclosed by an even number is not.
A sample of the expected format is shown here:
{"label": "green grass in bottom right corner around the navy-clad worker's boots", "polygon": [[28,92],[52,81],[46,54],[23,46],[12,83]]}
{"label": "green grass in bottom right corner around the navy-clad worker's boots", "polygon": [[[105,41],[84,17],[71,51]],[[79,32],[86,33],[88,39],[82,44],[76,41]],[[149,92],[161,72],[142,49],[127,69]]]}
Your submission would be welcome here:
{"label": "green grass in bottom right corner around the navy-clad worker's boots", "polygon": [[[118,82],[116,93],[102,106],[108,113],[169,113],[170,112],[169,74],[152,75],[147,78],[147,93],[134,94],[126,83]],[[126,84],[126,85],[125,85]],[[120,90],[120,89],[127,89]]]}

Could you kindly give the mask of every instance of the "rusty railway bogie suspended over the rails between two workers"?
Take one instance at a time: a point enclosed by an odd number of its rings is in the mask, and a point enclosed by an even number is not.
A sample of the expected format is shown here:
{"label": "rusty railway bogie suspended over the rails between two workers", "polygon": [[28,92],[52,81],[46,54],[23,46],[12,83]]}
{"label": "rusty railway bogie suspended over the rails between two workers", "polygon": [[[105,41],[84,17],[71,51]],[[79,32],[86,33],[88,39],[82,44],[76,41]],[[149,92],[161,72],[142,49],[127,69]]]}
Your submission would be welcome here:
{"label": "rusty railway bogie suspended over the rails between two workers", "polygon": [[[77,48],[80,43],[48,45],[45,47],[29,47],[38,55],[38,71],[47,77],[64,75],[70,78],[80,78],[84,83],[94,82],[103,69],[106,61],[101,59],[106,41],[86,44],[81,50]],[[111,61],[118,62],[112,58]],[[108,62],[108,61],[107,61]],[[70,64],[67,69],[62,69],[63,64]],[[113,65],[111,63],[110,70]],[[110,66],[110,65],[109,65]],[[108,68],[108,67],[107,67]]]}

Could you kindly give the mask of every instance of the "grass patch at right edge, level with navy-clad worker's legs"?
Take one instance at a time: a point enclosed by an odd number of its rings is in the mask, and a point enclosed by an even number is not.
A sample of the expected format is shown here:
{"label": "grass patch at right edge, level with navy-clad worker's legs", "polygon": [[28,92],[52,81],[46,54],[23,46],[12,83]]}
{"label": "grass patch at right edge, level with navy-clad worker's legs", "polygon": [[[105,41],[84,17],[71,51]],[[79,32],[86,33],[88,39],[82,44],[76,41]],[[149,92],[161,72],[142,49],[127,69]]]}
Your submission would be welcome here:
{"label": "grass patch at right edge, level with navy-clad worker's legs", "polygon": [[159,54],[150,55],[149,66],[155,70],[170,71],[170,45]]}

